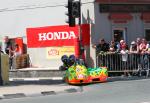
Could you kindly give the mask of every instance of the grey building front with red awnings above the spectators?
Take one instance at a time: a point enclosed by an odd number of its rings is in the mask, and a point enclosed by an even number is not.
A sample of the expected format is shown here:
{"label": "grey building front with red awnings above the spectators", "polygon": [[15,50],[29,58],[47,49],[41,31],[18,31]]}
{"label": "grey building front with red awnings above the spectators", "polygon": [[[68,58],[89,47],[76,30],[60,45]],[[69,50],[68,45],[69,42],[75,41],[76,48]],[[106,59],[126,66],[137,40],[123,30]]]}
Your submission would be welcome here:
{"label": "grey building front with red awnings above the spectators", "polygon": [[96,0],[96,32],[107,40],[117,33],[128,43],[137,37],[149,41],[149,6],[149,0]]}

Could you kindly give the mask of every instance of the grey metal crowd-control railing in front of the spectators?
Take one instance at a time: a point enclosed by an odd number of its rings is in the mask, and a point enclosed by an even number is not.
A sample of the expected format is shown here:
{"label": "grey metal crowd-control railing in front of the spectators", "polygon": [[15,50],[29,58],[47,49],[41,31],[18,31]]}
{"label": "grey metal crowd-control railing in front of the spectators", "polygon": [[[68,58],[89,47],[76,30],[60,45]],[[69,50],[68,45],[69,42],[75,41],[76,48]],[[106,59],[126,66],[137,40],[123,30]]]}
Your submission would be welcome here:
{"label": "grey metal crowd-control railing in front of the spectators", "polygon": [[96,65],[108,67],[108,72],[138,72],[150,69],[150,54],[100,53]]}

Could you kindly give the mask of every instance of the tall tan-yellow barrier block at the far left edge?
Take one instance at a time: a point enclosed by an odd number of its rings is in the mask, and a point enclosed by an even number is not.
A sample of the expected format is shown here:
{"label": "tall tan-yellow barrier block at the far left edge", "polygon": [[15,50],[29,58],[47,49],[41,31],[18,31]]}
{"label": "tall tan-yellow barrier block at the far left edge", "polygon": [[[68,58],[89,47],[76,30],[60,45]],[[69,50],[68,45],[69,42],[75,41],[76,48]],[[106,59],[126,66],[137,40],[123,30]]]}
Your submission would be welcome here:
{"label": "tall tan-yellow barrier block at the far left edge", "polygon": [[0,85],[9,83],[9,57],[7,54],[0,55]]}

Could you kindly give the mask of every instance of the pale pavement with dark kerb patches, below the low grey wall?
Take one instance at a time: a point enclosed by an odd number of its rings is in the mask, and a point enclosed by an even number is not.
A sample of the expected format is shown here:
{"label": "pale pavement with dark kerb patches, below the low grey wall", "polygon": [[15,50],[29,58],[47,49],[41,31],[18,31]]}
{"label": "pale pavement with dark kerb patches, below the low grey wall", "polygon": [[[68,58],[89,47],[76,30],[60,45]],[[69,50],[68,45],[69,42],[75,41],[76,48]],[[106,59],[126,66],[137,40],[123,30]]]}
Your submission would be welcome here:
{"label": "pale pavement with dark kerb patches, below the low grey wall", "polygon": [[10,78],[10,83],[0,86],[0,99],[56,95],[79,92],[79,86],[68,85],[57,78]]}

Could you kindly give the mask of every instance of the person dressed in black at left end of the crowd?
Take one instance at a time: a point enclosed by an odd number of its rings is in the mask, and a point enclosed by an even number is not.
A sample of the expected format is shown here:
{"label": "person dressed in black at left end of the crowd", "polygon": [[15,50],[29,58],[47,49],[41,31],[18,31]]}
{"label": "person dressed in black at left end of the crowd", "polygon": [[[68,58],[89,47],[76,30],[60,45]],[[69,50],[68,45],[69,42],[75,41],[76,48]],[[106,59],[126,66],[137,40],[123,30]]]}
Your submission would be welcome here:
{"label": "person dressed in black at left end of the crowd", "polygon": [[106,43],[104,39],[100,39],[99,44],[94,47],[97,53],[109,51],[109,44]]}

